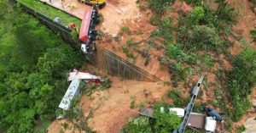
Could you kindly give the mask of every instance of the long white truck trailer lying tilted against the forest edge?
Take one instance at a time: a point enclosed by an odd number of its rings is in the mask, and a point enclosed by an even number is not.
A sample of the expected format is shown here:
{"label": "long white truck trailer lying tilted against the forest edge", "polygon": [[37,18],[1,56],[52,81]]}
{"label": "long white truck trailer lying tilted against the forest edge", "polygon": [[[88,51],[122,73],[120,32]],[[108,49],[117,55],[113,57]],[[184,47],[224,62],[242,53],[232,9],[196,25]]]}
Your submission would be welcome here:
{"label": "long white truck trailer lying tilted against the forest edge", "polygon": [[75,97],[76,95],[79,95],[79,84],[80,84],[80,80],[78,79],[72,80],[69,87],[67,88],[67,91],[64,97],[61,100],[61,103],[59,104],[59,108],[62,108],[64,110],[68,110],[68,108],[70,108],[73,97]]}

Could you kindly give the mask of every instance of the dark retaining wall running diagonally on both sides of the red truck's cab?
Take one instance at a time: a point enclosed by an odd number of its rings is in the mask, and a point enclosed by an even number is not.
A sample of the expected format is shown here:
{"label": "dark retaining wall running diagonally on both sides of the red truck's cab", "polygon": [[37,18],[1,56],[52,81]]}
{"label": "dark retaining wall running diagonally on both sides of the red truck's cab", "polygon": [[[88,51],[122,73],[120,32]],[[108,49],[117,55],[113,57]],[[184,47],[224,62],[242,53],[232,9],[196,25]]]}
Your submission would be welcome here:
{"label": "dark retaining wall running diagonally on both sides of the red truck's cab", "polygon": [[[17,1],[15,1],[15,3],[19,3]],[[33,10],[32,8],[28,8],[26,7],[26,5],[19,3],[20,7],[23,8],[28,14],[32,14],[34,17],[36,17],[37,19],[41,20],[42,23],[44,23],[45,25],[47,25],[49,27],[49,29],[54,30],[56,32],[61,32],[61,36],[62,38],[68,42],[73,48],[79,49],[79,45],[76,44],[75,42],[73,42],[72,36],[71,36],[71,32],[72,30],[68,29],[67,27],[54,22],[52,19],[49,19],[47,17],[45,17],[43,14],[38,13],[37,11]],[[119,56],[117,56],[116,54],[108,51],[108,49],[104,48],[104,47],[100,47],[98,46],[97,49],[101,49],[102,53],[105,53],[105,56],[108,55],[108,60],[112,60],[114,61],[114,64],[122,64],[122,66],[125,68],[122,69],[123,71],[114,71],[113,69],[107,68],[108,67],[108,63],[102,61],[102,64],[105,66],[104,69],[108,69],[108,70],[112,70],[111,74],[113,73],[118,73],[117,75],[121,76],[122,78],[125,79],[137,79],[137,80],[142,80],[142,79],[150,79],[152,81],[161,81],[159,78],[157,78],[154,75],[149,74],[147,71],[138,68],[136,65],[131,64],[130,62],[126,61],[123,58],[120,58]],[[89,56],[90,60],[97,60],[96,56]],[[106,57],[105,57],[106,58]],[[99,64],[99,63],[96,63]],[[116,66],[111,66],[116,67]],[[133,72],[131,74],[131,72]]]}

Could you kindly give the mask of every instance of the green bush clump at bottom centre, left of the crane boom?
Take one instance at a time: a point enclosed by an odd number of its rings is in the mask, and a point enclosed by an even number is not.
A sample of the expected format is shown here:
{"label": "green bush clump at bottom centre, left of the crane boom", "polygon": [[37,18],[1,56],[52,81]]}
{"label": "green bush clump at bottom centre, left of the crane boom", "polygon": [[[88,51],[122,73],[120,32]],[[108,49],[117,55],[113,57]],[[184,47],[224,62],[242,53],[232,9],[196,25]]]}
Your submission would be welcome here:
{"label": "green bush clump at bottom centre, left of the crane boom", "polygon": [[154,107],[154,118],[139,116],[130,118],[127,125],[119,132],[121,133],[168,133],[176,130],[181,122],[181,119],[172,112],[160,112],[160,107],[169,108],[166,103],[157,103]]}

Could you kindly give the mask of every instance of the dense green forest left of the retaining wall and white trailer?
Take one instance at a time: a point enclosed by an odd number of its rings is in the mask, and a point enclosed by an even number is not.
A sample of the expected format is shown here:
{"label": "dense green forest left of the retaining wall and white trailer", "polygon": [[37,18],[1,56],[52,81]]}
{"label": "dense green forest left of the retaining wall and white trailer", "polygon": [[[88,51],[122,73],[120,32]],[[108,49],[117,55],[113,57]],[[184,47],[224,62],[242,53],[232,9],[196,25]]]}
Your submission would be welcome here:
{"label": "dense green forest left of the retaining wall and white trailer", "polygon": [[0,132],[45,132],[81,57],[13,3],[0,7]]}

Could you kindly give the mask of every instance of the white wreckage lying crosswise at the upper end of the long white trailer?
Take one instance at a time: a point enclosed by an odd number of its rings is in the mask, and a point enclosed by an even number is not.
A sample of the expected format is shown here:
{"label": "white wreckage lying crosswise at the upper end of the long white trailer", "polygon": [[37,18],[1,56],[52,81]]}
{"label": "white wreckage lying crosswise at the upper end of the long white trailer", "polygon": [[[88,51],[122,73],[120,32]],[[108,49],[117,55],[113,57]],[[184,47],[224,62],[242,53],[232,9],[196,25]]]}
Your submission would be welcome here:
{"label": "white wreckage lying crosswise at the upper end of the long white trailer", "polygon": [[67,78],[68,81],[70,80],[102,80],[100,76],[90,75],[89,73],[83,72],[71,72],[69,73],[69,77]]}

